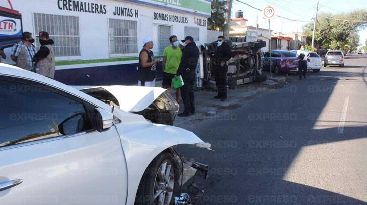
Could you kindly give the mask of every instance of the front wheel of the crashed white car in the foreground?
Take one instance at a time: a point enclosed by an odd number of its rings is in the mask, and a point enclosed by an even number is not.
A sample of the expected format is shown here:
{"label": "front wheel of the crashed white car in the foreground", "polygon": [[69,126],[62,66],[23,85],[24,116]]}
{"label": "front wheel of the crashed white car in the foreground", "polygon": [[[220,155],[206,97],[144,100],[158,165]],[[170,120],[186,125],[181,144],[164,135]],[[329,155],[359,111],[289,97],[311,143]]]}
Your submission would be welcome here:
{"label": "front wheel of the crashed white car in the foreground", "polygon": [[170,153],[158,155],[145,170],[135,205],[171,205],[177,189],[177,165]]}

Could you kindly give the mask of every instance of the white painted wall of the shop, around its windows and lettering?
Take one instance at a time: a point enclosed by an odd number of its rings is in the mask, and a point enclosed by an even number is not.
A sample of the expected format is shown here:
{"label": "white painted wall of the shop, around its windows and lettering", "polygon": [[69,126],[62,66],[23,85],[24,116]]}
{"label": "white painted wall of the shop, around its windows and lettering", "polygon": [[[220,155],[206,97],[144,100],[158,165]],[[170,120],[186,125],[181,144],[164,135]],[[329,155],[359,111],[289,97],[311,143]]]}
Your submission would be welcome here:
{"label": "white painted wall of the shop, around its windows and lettering", "polygon": [[[60,10],[58,8],[58,1],[44,1],[44,0],[12,0],[14,10],[18,10],[22,14],[23,31],[29,31],[34,33],[33,15],[32,13],[46,13],[57,15],[70,15],[79,16],[80,18],[80,43],[81,43],[81,56],[78,57],[57,57],[56,60],[90,60],[90,59],[107,59],[111,58],[109,54],[109,33],[108,33],[108,18],[114,19],[127,19],[137,20],[138,29],[138,52],[142,48],[142,41],[145,36],[151,36],[154,40],[157,40],[154,35],[157,31],[154,30],[154,24],[170,25],[172,26],[172,35],[178,36],[179,39],[183,39],[184,27],[192,26],[200,28],[200,42],[206,42],[207,27],[198,26],[195,24],[194,15],[188,15],[185,13],[178,13],[176,11],[163,10],[157,7],[148,7],[138,4],[132,4],[122,1],[104,0],[96,1],[89,0],[85,2],[98,3],[106,5],[106,14],[85,13],[78,11]],[[7,1],[0,0],[0,6],[9,8]],[[138,9],[139,17],[122,17],[115,16],[113,12],[115,7],[126,7],[132,9]],[[161,12],[166,14],[172,14],[177,16],[184,16],[188,18],[187,23],[176,23],[170,21],[153,20],[153,13]],[[205,19],[205,17],[199,17]],[[38,40],[38,39],[36,39]],[[167,39],[168,41],[168,39]],[[156,51],[156,49],[154,50]],[[119,57],[136,57],[138,54],[124,54]],[[115,62],[114,64],[131,63],[130,61]],[[99,65],[99,64],[96,64]],[[92,66],[91,64],[88,65]],[[71,66],[72,67],[72,66]],[[75,67],[75,66],[74,66]],[[80,67],[80,66],[79,66]],[[59,66],[58,69],[70,68],[70,66]]]}

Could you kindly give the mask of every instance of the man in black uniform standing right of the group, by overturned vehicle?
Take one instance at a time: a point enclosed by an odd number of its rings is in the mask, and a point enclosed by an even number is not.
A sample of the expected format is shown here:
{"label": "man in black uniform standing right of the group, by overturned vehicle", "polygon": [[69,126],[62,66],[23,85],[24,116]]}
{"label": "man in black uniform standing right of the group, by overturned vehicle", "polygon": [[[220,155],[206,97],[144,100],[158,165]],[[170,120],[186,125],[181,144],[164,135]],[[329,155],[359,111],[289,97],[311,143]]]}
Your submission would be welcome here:
{"label": "man in black uniform standing right of the group, by overturned vehicle", "polygon": [[218,95],[214,98],[221,99],[221,101],[227,100],[227,61],[232,57],[232,51],[230,45],[225,42],[224,36],[218,37],[218,48],[215,53],[216,57],[216,71],[215,76],[216,87],[218,89]]}

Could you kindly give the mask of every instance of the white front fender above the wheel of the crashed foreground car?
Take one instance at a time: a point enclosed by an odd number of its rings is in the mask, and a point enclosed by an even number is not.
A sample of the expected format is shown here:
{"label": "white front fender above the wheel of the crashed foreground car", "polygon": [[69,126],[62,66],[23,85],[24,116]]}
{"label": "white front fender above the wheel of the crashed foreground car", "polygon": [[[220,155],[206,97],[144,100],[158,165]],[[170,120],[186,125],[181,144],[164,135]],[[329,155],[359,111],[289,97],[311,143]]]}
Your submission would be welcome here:
{"label": "white front fender above the wheel of the crashed foreground car", "polygon": [[121,119],[115,124],[121,137],[128,169],[127,204],[134,204],[137,189],[144,171],[162,151],[179,144],[197,144],[208,148],[194,133],[174,126],[152,124],[142,116],[115,109]]}

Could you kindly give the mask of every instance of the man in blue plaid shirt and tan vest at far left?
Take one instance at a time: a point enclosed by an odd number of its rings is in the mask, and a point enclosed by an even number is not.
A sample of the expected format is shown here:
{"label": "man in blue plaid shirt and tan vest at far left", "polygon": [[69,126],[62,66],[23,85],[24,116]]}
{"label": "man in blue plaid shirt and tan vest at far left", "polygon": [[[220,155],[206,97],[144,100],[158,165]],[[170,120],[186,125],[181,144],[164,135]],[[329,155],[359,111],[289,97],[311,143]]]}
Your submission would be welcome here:
{"label": "man in blue plaid shirt and tan vest at far left", "polygon": [[34,47],[33,43],[32,33],[24,32],[22,34],[22,41],[13,46],[10,57],[17,63],[17,67],[35,72],[33,57],[36,54],[36,47]]}

